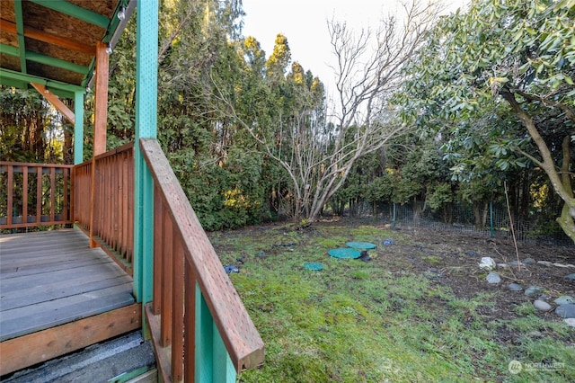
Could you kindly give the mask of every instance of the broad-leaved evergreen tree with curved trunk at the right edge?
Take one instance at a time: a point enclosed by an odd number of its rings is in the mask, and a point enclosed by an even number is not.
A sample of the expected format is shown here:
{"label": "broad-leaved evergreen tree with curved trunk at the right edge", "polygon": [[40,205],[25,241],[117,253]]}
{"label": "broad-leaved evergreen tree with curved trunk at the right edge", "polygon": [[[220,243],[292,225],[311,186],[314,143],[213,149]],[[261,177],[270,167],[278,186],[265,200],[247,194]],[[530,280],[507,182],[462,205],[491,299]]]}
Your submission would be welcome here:
{"label": "broad-leaved evergreen tree with curved trunk at the right edge", "polygon": [[438,22],[398,97],[444,144],[453,180],[497,189],[530,178],[529,197],[562,200],[557,222],[573,240],[574,16],[573,1],[475,0]]}

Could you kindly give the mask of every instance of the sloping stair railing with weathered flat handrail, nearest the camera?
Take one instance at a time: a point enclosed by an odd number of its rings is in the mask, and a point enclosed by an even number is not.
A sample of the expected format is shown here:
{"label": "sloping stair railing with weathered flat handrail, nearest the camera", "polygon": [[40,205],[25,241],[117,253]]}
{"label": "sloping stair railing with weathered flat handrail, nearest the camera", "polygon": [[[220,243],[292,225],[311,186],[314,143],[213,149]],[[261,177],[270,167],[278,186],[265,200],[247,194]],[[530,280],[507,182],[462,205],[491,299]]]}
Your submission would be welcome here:
{"label": "sloping stair railing with weathered flat handrail, nearest the camera", "polygon": [[155,183],[154,300],[146,316],[159,369],[166,382],[229,381],[230,364],[234,374],[261,365],[261,336],[162,148],[155,139],[140,147]]}

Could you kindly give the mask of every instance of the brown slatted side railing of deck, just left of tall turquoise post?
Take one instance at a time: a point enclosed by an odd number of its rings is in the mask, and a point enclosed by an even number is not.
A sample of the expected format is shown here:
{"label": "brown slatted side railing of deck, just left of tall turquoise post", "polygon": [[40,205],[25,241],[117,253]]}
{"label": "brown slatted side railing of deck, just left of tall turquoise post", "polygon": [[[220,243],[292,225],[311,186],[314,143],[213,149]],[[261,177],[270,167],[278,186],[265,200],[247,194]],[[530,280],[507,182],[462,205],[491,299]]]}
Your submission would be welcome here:
{"label": "brown slatted side railing of deck, just left of tall turquoise post", "polygon": [[130,274],[134,249],[133,148],[129,143],[96,156],[95,169],[93,161],[74,168],[75,221]]}

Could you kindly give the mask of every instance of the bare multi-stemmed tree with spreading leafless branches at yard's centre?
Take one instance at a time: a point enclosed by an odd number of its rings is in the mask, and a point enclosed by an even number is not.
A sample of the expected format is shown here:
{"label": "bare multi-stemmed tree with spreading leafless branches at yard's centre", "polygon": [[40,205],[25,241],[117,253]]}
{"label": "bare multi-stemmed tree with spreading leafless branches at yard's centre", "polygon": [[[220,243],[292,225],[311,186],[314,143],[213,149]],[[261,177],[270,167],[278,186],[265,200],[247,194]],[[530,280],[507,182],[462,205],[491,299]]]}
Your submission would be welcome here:
{"label": "bare multi-stemmed tree with spreading leafless branches at yard's centre", "polygon": [[[261,126],[238,116],[229,97],[218,98],[265,152],[287,172],[292,186],[289,202],[296,222],[314,221],[325,203],[345,183],[359,157],[379,150],[408,127],[394,119],[389,99],[402,79],[403,64],[438,16],[437,4],[421,6],[417,0],[403,7],[400,17],[388,16],[376,32],[350,31],[345,22],[328,22],[336,57],[336,102],[331,115],[318,111],[299,94],[299,108],[289,118],[279,118],[273,136]],[[314,109],[315,108],[315,109]]]}

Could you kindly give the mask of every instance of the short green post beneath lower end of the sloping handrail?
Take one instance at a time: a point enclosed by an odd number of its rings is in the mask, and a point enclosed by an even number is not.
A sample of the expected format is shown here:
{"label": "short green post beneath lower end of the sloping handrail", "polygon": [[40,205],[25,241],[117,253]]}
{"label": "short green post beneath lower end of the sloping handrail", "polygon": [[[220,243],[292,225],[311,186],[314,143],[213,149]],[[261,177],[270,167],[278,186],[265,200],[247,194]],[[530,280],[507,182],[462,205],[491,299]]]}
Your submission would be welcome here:
{"label": "short green post beneath lower end of the sloping handrail", "polygon": [[197,383],[235,382],[236,372],[206,299],[196,284],[196,376]]}

